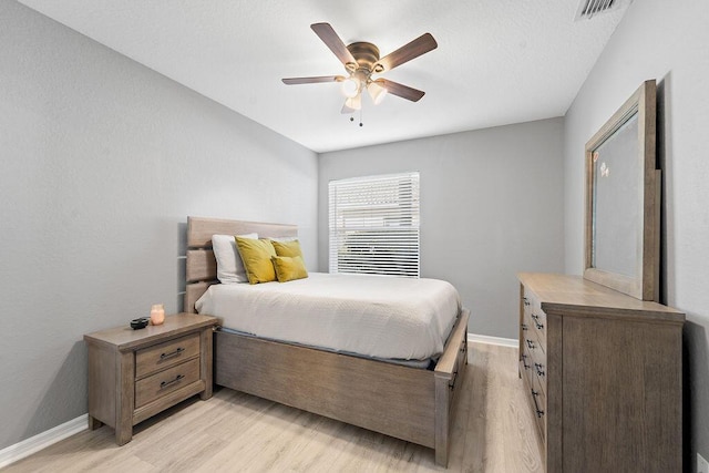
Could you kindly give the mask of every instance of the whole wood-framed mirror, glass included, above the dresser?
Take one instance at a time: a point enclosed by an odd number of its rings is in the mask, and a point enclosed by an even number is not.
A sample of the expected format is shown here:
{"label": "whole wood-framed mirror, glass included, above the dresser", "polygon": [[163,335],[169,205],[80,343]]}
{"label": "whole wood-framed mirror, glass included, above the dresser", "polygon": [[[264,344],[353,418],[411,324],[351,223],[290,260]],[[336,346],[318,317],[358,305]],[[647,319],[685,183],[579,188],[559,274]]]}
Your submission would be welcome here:
{"label": "whole wood-framed mirror, glass included, above the dresser", "polygon": [[641,300],[659,296],[656,106],[646,81],[586,143],[584,278]]}

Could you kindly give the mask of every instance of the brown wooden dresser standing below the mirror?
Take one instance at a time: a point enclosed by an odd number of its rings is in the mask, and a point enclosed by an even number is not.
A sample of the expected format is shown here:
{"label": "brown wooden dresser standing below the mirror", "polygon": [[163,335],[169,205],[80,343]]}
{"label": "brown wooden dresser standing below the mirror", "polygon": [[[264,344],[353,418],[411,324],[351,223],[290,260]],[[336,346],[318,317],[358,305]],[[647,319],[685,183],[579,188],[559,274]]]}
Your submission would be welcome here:
{"label": "brown wooden dresser standing below the mirror", "polygon": [[547,472],[681,472],[685,315],[523,273],[520,378]]}

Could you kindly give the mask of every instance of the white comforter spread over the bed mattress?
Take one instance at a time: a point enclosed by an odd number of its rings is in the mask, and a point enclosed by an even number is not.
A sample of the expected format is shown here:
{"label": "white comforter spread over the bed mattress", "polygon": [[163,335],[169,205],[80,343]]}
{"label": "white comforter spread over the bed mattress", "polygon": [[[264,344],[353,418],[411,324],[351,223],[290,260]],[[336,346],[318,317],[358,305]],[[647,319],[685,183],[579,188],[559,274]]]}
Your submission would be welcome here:
{"label": "white comforter spread over the bed mattress", "polygon": [[307,279],[213,285],[196,309],[225,328],[373,358],[424,360],[443,352],[460,311],[438,279],[310,273]]}

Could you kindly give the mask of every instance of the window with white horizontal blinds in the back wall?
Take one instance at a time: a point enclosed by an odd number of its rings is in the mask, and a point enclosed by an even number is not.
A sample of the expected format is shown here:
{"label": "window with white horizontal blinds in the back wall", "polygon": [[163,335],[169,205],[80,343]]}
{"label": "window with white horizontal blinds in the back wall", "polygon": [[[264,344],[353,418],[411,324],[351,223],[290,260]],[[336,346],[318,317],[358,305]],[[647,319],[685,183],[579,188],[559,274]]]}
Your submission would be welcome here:
{"label": "window with white horizontal blinds in the back wall", "polygon": [[330,273],[419,277],[419,173],[331,181]]}

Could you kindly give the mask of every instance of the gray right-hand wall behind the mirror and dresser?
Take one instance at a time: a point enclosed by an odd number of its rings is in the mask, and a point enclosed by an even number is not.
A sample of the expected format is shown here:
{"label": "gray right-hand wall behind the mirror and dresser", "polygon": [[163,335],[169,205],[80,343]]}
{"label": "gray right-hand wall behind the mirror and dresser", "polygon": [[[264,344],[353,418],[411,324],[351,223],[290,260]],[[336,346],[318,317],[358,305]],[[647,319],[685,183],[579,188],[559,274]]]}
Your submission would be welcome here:
{"label": "gray right-hand wall behind the mirror and dresser", "polygon": [[644,80],[658,81],[662,302],[687,312],[687,433],[709,459],[709,3],[635,1],[566,115],[566,271],[583,271],[584,144]]}

